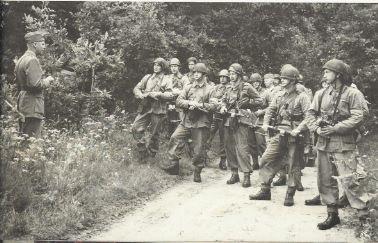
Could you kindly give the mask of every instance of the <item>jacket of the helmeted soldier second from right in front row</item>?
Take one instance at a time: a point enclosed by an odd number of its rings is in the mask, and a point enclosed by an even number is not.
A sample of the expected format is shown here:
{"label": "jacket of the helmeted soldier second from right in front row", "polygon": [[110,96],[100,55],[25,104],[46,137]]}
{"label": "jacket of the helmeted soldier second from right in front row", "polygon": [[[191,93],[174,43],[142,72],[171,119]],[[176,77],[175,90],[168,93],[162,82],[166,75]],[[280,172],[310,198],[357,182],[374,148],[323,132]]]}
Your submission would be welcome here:
{"label": "jacket of the helmeted soldier second from right in front row", "polygon": [[278,92],[269,104],[265,116],[264,124],[270,125],[271,119],[275,120],[278,128],[291,131],[294,128],[300,131],[307,130],[304,118],[310,107],[310,99],[307,94],[298,92],[295,87],[290,90]]}

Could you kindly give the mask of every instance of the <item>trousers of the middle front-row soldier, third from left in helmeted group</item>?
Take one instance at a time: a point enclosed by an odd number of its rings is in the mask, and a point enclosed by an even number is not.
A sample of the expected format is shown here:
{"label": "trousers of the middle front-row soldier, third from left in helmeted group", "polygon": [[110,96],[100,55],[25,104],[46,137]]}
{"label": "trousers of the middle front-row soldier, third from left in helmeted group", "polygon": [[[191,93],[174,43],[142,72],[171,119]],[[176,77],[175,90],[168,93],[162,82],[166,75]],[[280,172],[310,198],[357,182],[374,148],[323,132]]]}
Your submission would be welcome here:
{"label": "trousers of the middle front-row soldier, third from left in helmeted group", "polygon": [[239,169],[242,172],[253,171],[248,145],[249,126],[239,124],[236,131],[229,126],[225,127],[224,139],[227,162],[231,170]]}

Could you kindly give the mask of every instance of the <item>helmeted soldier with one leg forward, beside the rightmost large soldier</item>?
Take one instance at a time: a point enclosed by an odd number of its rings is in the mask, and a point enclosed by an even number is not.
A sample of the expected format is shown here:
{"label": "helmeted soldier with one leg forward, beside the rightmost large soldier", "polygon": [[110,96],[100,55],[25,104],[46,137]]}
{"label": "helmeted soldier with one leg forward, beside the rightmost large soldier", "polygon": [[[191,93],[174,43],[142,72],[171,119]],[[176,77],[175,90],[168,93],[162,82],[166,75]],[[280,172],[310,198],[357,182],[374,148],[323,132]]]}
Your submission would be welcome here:
{"label": "helmeted soldier with one leg forward, beside the rightmost large soldier", "polygon": [[260,168],[259,172],[261,189],[257,194],[250,195],[250,200],[271,199],[270,184],[274,175],[282,168],[283,158],[286,156],[289,179],[284,205],[294,205],[293,197],[301,178],[298,160],[301,139],[298,135],[307,129],[303,118],[310,106],[308,96],[298,93],[295,88],[298,76],[299,71],[292,65],[286,64],[281,69],[281,85],[284,90],[273,98],[265,113],[263,125],[263,129],[267,131],[269,124],[273,124],[279,130],[279,134],[271,137],[268,142],[261,159],[264,167]]}

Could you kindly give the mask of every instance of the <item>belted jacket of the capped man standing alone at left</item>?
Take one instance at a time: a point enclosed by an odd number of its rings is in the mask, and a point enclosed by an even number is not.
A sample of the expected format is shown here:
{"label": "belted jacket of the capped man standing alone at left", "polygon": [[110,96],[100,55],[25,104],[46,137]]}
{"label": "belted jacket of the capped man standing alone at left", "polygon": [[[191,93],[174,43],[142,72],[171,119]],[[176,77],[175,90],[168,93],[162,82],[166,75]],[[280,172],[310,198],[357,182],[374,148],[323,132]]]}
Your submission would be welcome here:
{"label": "belted jacket of the capped man standing alone at left", "polygon": [[25,117],[42,119],[45,113],[41,65],[32,51],[26,51],[15,67],[15,77],[18,89],[18,110]]}

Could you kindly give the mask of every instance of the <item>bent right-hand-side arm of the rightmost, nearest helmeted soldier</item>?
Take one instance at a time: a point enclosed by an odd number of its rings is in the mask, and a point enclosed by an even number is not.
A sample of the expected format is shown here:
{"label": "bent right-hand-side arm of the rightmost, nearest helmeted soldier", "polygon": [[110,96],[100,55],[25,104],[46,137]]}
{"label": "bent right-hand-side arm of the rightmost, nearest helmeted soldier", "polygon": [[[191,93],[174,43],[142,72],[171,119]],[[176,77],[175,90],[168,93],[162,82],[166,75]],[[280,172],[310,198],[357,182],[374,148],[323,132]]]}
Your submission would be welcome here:
{"label": "bent right-hand-side arm of the rightmost, nearest helmeted soldier", "polygon": [[349,96],[350,117],[335,124],[337,133],[343,134],[353,131],[364,121],[364,96],[358,90],[354,90]]}

